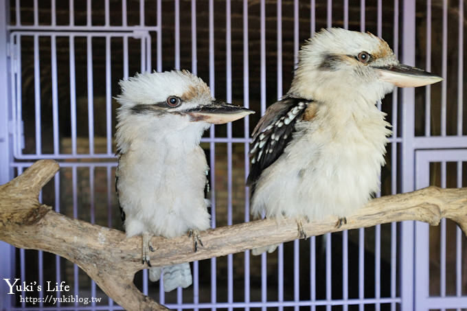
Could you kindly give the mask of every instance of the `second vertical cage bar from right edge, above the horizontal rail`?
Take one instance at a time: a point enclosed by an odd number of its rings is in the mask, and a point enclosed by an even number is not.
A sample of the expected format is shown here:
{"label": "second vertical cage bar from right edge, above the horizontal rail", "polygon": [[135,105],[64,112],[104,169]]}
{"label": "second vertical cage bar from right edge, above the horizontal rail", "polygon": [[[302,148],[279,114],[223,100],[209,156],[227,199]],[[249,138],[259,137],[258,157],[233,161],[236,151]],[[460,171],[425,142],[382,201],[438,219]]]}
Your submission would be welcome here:
{"label": "second vertical cage bar from right edge, above the horizontal rail", "polygon": [[446,101],[448,87],[448,1],[443,0],[443,21],[442,21],[442,82],[441,82],[441,136],[446,136]]}

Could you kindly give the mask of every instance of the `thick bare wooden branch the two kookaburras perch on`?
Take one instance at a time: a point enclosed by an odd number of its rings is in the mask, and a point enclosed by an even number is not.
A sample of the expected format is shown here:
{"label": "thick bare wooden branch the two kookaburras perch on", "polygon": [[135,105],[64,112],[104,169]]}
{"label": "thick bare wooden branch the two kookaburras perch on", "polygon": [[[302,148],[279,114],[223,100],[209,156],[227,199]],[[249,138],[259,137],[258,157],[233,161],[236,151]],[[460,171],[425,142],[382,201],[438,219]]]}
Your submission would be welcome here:
{"label": "thick bare wooden branch the two kookaburras perch on", "polygon": [[[58,171],[55,161],[37,161],[21,176],[0,186],[0,240],[23,249],[55,253],[78,264],[102,290],[126,310],[166,310],[133,284],[141,264],[141,237],[58,214],[38,202],[38,193]],[[386,222],[420,220],[436,225],[449,218],[467,233],[467,188],[428,187],[407,194],[375,198],[335,227],[336,218],[304,224],[308,236],[371,227]],[[297,239],[294,220],[258,220],[203,231],[204,247],[193,252],[192,240],[153,238],[153,266],[204,260]]]}

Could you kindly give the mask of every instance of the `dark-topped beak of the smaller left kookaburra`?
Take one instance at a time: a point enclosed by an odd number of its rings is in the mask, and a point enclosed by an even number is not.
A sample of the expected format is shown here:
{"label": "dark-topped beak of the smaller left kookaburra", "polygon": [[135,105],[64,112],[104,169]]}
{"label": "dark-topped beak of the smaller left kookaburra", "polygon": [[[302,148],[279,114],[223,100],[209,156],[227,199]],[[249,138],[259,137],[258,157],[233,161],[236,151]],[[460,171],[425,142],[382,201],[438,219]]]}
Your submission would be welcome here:
{"label": "dark-topped beak of the smaller left kookaburra", "polygon": [[255,112],[233,104],[213,101],[210,104],[201,106],[199,108],[185,111],[185,113],[190,115],[192,121],[203,121],[211,124],[224,124],[241,119],[242,117]]}

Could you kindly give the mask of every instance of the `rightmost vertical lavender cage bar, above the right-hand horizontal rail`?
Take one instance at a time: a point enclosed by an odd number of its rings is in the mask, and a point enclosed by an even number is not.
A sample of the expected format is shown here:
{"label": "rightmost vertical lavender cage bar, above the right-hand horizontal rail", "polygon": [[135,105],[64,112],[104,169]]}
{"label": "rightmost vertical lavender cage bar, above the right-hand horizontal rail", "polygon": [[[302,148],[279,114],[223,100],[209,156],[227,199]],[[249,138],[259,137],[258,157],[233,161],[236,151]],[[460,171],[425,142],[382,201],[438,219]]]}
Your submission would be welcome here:
{"label": "rightmost vertical lavender cage bar, above the right-hand horizontal rail", "polygon": [[[464,1],[459,0],[459,54],[457,55],[457,135],[462,136],[462,117],[464,116]],[[457,228],[459,230],[459,228]]]}

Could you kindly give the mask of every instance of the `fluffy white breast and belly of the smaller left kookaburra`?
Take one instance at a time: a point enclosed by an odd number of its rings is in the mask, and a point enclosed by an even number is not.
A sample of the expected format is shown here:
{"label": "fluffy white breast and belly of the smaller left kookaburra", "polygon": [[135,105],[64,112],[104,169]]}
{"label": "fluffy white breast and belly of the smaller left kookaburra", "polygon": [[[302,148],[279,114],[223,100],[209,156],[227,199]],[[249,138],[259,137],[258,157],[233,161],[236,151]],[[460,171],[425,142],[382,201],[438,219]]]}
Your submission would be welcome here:
{"label": "fluffy white breast and belly of the smaller left kookaburra", "polygon": [[203,149],[132,146],[119,160],[119,202],[128,236],[148,231],[172,238],[209,228]]}

